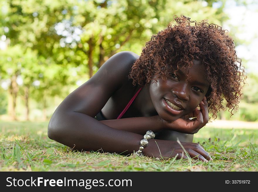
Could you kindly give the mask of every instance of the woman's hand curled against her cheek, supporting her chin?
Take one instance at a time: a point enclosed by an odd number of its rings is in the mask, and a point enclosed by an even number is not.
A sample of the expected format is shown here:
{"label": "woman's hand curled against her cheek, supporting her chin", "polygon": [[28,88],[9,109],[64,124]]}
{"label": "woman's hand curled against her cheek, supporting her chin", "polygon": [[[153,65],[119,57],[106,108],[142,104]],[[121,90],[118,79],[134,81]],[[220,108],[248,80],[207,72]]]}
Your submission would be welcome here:
{"label": "woman's hand curled against her cheek, supporting her chin", "polygon": [[[192,113],[181,117],[173,122],[167,122],[162,120],[164,127],[181,133],[197,133],[209,121],[208,103],[206,97],[203,98],[199,106],[200,110],[198,108],[195,108]],[[192,117],[193,119],[190,120],[189,118]]]}

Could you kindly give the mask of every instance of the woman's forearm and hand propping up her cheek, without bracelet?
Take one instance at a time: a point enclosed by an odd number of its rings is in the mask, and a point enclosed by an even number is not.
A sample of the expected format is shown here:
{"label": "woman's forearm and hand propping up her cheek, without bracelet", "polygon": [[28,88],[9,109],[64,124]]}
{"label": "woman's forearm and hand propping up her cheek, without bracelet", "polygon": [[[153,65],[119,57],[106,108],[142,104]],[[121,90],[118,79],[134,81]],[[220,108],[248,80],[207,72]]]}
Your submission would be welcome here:
{"label": "woman's forearm and hand propping up her cheek, without bracelet", "polygon": [[[206,97],[203,98],[203,101],[199,106],[200,110],[196,108],[193,111],[193,114],[179,118],[174,122],[164,121],[159,117],[159,115],[151,117],[132,117],[114,120],[102,120],[100,122],[115,129],[130,131],[138,134],[145,134],[147,130],[158,132],[162,129],[169,129],[186,134],[194,134],[197,133],[202,127],[204,127],[209,120],[208,103]],[[189,120],[189,117],[195,118]]]}

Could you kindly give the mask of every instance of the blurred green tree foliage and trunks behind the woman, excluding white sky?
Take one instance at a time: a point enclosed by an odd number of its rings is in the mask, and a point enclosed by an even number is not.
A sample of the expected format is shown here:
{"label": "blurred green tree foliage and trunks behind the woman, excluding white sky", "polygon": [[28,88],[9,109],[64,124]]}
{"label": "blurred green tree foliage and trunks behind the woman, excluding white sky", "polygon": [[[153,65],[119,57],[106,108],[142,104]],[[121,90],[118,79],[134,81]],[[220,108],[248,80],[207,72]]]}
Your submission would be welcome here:
{"label": "blurred green tree foliage and trunks behind the woman, excluding white sky", "polygon": [[[218,8],[213,4],[222,2]],[[45,110],[47,97],[65,97],[79,79],[118,51],[141,53],[152,34],[174,15],[221,24],[225,0],[0,0],[0,80],[10,82],[9,114],[20,94],[29,116],[29,98]],[[8,41],[8,42],[7,42]],[[79,85],[79,84],[78,84]],[[46,113],[44,113],[46,118]]]}

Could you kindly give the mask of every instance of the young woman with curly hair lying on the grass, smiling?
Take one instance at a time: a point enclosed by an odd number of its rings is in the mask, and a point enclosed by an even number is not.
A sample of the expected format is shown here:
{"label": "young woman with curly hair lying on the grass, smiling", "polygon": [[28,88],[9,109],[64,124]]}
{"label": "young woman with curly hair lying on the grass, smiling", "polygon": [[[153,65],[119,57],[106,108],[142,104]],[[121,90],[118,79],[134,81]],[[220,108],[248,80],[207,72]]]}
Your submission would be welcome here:
{"label": "young woman with curly hair lying on the grass, smiling", "polygon": [[187,158],[182,145],[191,158],[212,160],[193,134],[223,98],[237,108],[244,71],[220,26],[174,19],[140,56],[116,53],[69,94],[51,117],[49,138],[80,151],[159,158]]}

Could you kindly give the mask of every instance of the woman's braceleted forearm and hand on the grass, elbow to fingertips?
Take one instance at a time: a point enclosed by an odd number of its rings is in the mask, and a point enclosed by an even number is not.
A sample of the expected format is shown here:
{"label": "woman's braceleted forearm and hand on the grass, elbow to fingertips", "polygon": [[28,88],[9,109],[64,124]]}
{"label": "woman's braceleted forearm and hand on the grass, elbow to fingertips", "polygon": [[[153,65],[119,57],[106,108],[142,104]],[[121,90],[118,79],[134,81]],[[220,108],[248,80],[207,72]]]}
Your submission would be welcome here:
{"label": "woman's braceleted forearm and hand on the grass, elbow to fingertips", "polygon": [[[68,118],[69,117],[69,118]],[[79,151],[103,151],[131,154],[139,150],[143,136],[128,131],[113,129],[88,115],[71,112],[53,117],[48,136]],[[211,156],[198,143],[182,143],[191,158],[206,161]],[[149,157],[187,158],[184,149],[176,141],[151,139],[142,153]]]}

